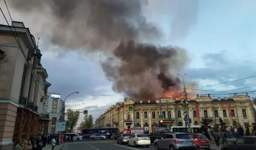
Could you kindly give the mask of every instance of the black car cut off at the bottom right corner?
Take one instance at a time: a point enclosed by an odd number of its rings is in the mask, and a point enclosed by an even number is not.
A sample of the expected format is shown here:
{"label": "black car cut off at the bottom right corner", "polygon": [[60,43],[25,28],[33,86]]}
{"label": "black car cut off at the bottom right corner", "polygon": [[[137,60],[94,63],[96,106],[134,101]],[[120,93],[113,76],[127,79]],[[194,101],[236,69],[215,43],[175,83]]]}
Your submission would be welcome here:
{"label": "black car cut off at the bottom right corner", "polygon": [[232,144],[221,145],[221,150],[255,150],[256,136],[242,136]]}

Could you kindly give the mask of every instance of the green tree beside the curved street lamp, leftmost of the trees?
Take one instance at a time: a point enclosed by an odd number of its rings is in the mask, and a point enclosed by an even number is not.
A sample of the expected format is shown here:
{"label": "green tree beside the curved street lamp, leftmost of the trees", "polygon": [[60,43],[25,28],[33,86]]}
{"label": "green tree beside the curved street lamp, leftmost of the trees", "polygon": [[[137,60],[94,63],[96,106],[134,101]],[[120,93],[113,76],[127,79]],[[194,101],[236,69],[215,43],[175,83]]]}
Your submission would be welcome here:
{"label": "green tree beside the curved street lamp, leftmost of the trees", "polygon": [[73,128],[76,126],[76,123],[79,119],[79,110],[71,110],[71,109],[67,109],[67,120],[66,120],[66,124],[67,127],[70,128],[70,130],[73,130]]}

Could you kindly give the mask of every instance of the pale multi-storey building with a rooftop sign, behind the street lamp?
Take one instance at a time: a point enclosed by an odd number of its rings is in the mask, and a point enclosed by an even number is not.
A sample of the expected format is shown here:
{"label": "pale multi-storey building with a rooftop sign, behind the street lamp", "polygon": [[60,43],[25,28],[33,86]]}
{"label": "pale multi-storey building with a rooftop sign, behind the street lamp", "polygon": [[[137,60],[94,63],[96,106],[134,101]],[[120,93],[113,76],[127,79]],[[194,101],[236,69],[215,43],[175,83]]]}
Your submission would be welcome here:
{"label": "pale multi-storey building with a rooftop sign, behind the street lamp", "polygon": [[58,133],[56,124],[60,122],[63,100],[60,99],[61,94],[47,93],[47,100],[44,103],[44,112],[49,115],[49,126],[47,133]]}

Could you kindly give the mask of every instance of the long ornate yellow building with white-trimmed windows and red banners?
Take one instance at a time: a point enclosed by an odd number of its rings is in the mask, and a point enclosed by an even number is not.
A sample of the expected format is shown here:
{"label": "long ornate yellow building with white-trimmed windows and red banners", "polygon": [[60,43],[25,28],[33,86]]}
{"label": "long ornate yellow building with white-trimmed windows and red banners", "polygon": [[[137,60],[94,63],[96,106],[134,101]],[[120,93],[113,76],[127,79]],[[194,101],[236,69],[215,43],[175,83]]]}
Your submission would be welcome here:
{"label": "long ornate yellow building with white-trimmed windows and red banners", "polygon": [[[159,99],[136,102],[134,99],[125,98],[123,102],[116,103],[101,115],[101,126],[118,127],[119,130],[142,127],[152,132],[159,125],[160,108],[163,114],[162,127],[185,126],[183,120],[185,108],[180,102],[181,100],[172,98],[161,98],[161,103]],[[191,125],[208,122],[209,126],[219,126],[221,125],[220,119],[227,126],[252,125],[255,121],[251,102],[248,94],[235,94],[233,98],[225,97],[224,99],[212,99],[210,95],[197,96],[193,100],[188,99]],[[131,107],[133,109],[129,110]]]}

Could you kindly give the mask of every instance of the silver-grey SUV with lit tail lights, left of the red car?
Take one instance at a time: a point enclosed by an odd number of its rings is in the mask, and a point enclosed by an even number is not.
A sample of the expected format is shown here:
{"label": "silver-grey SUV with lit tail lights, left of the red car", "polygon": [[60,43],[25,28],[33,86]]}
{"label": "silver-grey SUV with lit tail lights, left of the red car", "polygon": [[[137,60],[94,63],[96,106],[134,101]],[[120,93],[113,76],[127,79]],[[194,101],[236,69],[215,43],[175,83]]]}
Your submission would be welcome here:
{"label": "silver-grey SUV with lit tail lights, left of the red car", "polygon": [[196,150],[196,144],[188,133],[164,133],[154,141],[155,150]]}

